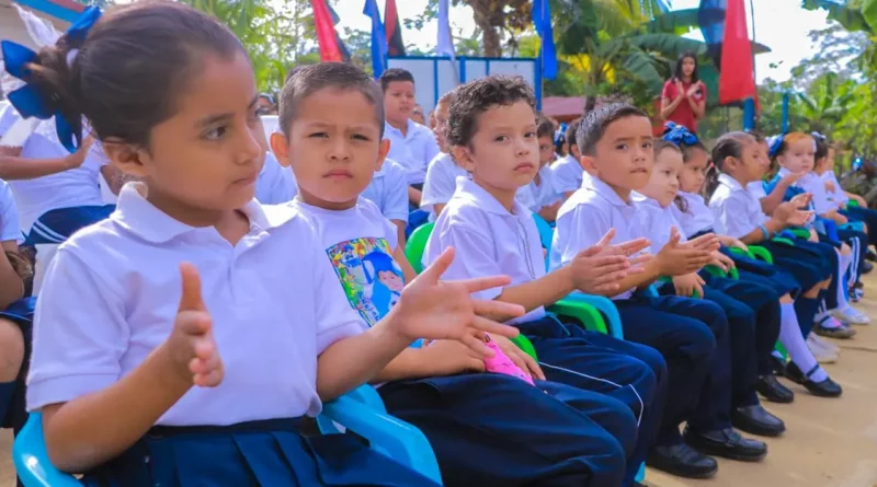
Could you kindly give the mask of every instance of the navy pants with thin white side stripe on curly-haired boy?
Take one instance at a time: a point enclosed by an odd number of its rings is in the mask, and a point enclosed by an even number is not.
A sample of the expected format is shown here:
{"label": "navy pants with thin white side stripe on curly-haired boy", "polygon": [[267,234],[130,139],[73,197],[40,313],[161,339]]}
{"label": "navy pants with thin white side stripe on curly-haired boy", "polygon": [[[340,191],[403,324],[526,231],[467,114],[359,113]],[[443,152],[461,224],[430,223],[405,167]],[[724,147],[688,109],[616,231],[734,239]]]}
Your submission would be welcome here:
{"label": "navy pants with thin white side stripe on curly-haired boy", "polygon": [[614,397],[637,417],[639,436],[624,483],[633,485],[654,443],[667,399],[661,353],[577,325],[565,326],[553,316],[516,326],[533,343],[546,379]]}

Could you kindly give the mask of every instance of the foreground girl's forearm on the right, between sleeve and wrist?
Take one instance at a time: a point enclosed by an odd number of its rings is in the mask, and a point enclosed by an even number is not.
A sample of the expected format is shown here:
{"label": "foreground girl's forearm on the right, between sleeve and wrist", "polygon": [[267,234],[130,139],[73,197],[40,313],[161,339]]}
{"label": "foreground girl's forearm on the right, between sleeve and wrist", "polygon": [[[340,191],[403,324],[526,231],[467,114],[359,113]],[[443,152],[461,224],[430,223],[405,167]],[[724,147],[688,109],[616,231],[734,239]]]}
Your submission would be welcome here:
{"label": "foreground girl's forearm on the right, between sleeve and wrist", "polygon": [[317,393],[323,402],[372,382],[409,345],[392,332],[396,310],[364,333],[330,345],[317,359]]}

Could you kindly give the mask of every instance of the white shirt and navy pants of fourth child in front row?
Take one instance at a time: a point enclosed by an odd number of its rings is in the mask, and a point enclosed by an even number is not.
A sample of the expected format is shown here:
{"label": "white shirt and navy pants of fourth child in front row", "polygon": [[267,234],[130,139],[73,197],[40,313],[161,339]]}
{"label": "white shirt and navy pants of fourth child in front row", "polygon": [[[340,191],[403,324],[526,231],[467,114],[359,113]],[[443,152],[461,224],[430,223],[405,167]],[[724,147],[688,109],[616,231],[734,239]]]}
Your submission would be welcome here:
{"label": "white shirt and navy pants of fourth child in front row", "polygon": [[[558,211],[551,269],[569,264],[610,229],[616,232],[613,244],[645,236],[642,217],[635,202],[622,200],[604,182],[585,178]],[[657,444],[681,443],[682,421],[697,431],[730,428],[730,340],[721,308],[705,300],[649,297],[634,290],[613,300],[625,338],[657,349],[667,361],[669,401]]]}

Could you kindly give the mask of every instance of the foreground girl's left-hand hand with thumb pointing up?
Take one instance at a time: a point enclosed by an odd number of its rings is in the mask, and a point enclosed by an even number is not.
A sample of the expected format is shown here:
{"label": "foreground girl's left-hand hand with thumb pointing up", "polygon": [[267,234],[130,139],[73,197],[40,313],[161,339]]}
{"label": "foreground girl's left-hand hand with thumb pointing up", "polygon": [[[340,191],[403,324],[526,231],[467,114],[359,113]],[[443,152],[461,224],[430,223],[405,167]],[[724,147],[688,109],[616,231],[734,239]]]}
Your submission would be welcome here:
{"label": "foreground girl's left-hand hand with thumb pointing up", "polygon": [[174,367],[194,385],[215,387],[223,382],[223,359],[213,336],[213,321],[201,294],[195,266],[180,265],[183,293],[167,346]]}

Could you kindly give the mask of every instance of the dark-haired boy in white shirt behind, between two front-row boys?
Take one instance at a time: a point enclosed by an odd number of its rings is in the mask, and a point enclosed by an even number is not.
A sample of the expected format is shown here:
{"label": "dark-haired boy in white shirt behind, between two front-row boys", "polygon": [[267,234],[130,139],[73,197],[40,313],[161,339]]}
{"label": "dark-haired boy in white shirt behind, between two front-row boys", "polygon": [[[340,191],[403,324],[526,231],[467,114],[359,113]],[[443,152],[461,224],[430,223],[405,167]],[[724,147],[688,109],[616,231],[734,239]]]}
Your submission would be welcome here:
{"label": "dark-haired boy in white shirt behind, between two front-row boys", "polygon": [[390,141],[388,156],[408,172],[408,199],[420,206],[426,165],[440,152],[432,131],[411,119],[417,105],[414,77],[405,69],[390,68],[380,74],[384,111],[387,114],[384,138]]}

